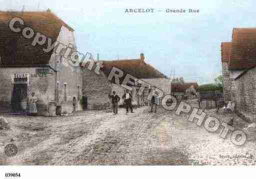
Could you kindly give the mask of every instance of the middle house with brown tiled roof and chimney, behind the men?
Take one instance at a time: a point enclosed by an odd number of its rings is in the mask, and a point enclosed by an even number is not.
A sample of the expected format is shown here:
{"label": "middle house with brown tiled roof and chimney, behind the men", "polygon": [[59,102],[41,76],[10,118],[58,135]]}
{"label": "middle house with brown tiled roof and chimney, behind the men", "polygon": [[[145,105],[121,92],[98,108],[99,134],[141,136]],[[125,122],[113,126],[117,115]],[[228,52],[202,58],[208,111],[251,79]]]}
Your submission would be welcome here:
{"label": "middle house with brown tiled roof and chimney, behind the men", "polygon": [[[157,69],[147,64],[144,61],[144,54],[140,55],[138,59],[122,59],[113,61],[102,61],[103,67],[99,75],[90,70],[83,69],[83,99],[88,109],[106,109],[111,106],[108,94],[113,91],[121,98],[119,105],[123,105],[122,96],[125,89],[119,85],[108,81],[107,77],[112,69],[116,67],[124,72],[130,74],[138,79],[141,79],[153,86],[160,88],[164,94],[171,94],[170,79],[159,72]],[[120,78],[122,82],[123,78]],[[145,105],[147,103],[146,97],[148,96],[148,89],[145,89],[142,96],[138,96],[136,90],[138,87],[132,86],[131,91],[133,95],[133,105]],[[159,101],[160,102],[160,101]]]}

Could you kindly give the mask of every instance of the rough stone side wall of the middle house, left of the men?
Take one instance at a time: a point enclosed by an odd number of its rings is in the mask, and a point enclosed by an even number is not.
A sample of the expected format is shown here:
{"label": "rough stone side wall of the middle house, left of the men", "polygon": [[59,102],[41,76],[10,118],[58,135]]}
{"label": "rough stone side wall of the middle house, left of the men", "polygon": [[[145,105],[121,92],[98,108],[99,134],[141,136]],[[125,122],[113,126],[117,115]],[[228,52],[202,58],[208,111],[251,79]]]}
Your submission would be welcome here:
{"label": "rough stone side wall of the middle house, left of the men", "polygon": [[108,109],[111,107],[111,101],[108,94],[111,93],[111,83],[107,77],[100,72],[96,74],[94,68],[92,71],[87,68],[81,69],[83,96],[87,96],[88,109]]}

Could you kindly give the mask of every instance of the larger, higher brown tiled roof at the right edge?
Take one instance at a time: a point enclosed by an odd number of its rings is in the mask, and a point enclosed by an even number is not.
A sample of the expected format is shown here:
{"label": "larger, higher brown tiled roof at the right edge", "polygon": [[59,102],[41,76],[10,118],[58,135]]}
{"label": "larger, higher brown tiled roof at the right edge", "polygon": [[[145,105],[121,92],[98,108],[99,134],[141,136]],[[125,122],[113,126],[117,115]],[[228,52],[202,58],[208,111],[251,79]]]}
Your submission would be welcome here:
{"label": "larger, higher brown tiled roof at the right edge", "polygon": [[256,28],[234,28],[229,69],[256,66]]}

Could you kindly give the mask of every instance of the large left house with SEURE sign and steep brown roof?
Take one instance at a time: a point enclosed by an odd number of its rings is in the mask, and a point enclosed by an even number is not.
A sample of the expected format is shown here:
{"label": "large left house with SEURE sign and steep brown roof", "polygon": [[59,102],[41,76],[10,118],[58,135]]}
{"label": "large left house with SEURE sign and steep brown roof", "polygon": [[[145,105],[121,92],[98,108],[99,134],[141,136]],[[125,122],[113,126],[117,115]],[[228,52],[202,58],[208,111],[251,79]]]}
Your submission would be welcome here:
{"label": "large left house with SEURE sign and steep brown roof", "polygon": [[[13,32],[8,26],[13,17],[23,20],[24,24],[13,25],[20,32]],[[31,31],[24,33],[27,27],[34,31],[32,37],[26,36]],[[60,43],[76,48],[74,30],[50,11],[0,12],[0,29],[0,109],[12,113],[25,111],[24,103],[34,92],[40,115],[81,110],[80,67],[70,66],[67,58],[55,53]],[[47,38],[44,44],[33,46],[37,32]],[[49,38],[51,44],[60,43],[45,52]],[[42,76],[40,72],[47,75]]]}

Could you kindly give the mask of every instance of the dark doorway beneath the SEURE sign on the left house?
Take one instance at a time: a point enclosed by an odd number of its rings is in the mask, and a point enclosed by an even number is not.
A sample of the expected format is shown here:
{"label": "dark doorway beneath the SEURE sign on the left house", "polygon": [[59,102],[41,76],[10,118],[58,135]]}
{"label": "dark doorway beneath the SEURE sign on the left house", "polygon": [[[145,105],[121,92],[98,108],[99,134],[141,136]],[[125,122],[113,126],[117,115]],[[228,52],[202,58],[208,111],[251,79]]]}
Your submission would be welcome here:
{"label": "dark doorway beneath the SEURE sign on the left house", "polygon": [[27,98],[27,84],[14,84],[11,96],[12,112],[23,111],[21,102]]}

